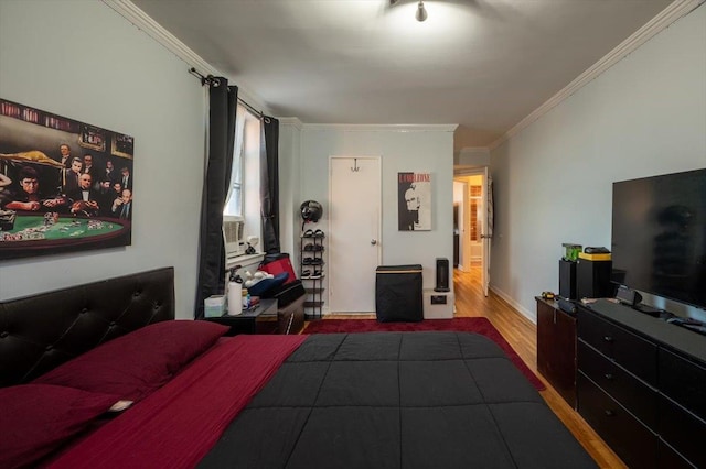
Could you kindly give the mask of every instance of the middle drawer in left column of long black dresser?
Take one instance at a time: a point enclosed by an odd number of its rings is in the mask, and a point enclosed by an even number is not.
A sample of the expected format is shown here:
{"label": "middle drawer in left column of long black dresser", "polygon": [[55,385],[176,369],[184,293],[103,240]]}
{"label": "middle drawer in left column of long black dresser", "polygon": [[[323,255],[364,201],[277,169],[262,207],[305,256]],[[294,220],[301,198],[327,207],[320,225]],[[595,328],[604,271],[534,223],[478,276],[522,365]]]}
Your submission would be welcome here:
{"label": "middle drawer in left column of long black dresser", "polygon": [[579,369],[616,401],[652,429],[657,427],[656,389],[648,386],[608,360],[582,340],[578,341]]}

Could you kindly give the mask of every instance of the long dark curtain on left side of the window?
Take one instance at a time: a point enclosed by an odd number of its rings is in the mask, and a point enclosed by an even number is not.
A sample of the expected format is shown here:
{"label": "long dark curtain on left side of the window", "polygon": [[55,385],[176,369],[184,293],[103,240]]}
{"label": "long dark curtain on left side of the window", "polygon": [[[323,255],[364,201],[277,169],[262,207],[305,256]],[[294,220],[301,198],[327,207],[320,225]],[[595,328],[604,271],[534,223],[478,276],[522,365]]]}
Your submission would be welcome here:
{"label": "long dark curtain on left side of the window", "polygon": [[203,301],[225,287],[223,208],[231,184],[238,88],[215,77],[208,81],[208,165],[201,199],[199,284],[194,316],[203,317]]}

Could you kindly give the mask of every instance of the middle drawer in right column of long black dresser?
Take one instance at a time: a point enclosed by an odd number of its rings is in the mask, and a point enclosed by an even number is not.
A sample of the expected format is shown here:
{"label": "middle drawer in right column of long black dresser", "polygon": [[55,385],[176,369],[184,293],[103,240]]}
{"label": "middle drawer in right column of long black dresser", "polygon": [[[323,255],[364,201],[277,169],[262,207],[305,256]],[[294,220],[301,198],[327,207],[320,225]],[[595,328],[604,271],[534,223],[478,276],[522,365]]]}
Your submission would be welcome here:
{"label": "middle drawer in right column of long black dresser", "polygon": [[660,397],[660,437],[697,468],[706,468],[706,422]]}

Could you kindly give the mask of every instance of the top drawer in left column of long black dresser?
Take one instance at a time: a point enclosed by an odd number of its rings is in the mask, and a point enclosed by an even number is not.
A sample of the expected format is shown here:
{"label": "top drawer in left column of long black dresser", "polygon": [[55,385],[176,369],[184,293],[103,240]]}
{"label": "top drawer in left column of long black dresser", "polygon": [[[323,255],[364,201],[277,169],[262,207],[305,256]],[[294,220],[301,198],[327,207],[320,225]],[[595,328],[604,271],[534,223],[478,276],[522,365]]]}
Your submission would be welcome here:
{"label": "top drawer in left column of long black dresser", "polygon": [[657,384],[657,346],[627,329],[579,308],[577,335],[648,384]]}

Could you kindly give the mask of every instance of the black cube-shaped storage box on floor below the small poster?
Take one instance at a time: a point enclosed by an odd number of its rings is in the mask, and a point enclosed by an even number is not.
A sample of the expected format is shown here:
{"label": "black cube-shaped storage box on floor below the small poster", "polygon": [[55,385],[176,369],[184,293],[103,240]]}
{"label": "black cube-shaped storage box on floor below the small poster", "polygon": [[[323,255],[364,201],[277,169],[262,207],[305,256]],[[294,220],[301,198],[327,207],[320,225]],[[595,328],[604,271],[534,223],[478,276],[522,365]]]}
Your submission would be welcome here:
{"label": "black cube-shaped storage box on floor below the small poster", "polygon": [[377,268],[375,314],[379,323],[417,323],[424,319],[420,264]]}

